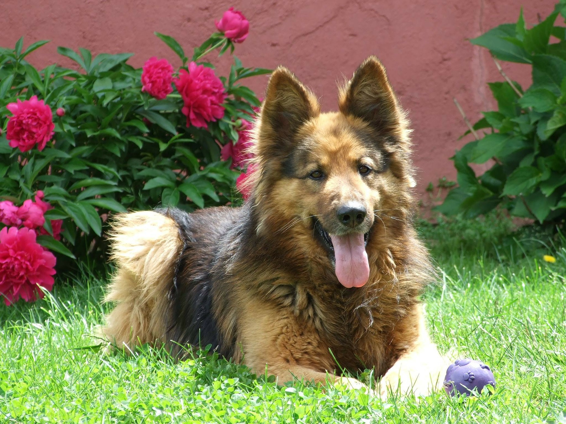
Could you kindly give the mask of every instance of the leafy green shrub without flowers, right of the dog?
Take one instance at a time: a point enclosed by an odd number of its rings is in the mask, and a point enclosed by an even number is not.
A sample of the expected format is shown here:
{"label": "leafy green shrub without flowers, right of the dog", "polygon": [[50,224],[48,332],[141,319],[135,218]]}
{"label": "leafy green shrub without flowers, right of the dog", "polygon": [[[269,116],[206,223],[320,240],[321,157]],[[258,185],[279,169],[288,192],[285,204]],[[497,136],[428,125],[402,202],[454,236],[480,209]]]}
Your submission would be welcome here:
{"label": "leafy green shrub without flowers, right of the dog", "polygon": [[[566,217],[566,28],[555,26],[566,16],[564,6],[558,3],[530,29],[521,10],[517,23],[471,40],[494,58],[529,64],[533,84],[525,91],[508,79],[489,84],[498,110],[483,113],[473,128],[487,133],[452,157],[459,187],[438,207],[441,213],[471,218],[501,205],[541,223]],[[491,168],[479,177],[469,166],[488,161]]]}

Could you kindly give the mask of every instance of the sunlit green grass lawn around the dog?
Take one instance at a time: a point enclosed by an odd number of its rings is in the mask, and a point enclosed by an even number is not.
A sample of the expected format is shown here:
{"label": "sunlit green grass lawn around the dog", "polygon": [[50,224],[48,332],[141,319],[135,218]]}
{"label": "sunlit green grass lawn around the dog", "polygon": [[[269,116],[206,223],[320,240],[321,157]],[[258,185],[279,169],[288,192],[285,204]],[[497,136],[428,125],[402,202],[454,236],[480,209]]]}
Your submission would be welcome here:
{"label": "sunlit green grass lawn around the dog", "polygon": [[[426,293],[441,351],[479,358],[494,395],[465,401],[444,392],[388,403],[344,388],[277,387],[210,356],[175,363],[160,349],[102,354],[104,279],[59,281],[36,304],[0,305],[0,422],[392,422],[529,423],[566,408],[566,243],[508,236],[509,224],[422,224],[439,269]],[[522,237],[522,238],[521,238]],[[542,238],[542,237],[541,237]],[[542,261],[553,254],[556,263]],[[362,376],[364,377],[364,376]]]}

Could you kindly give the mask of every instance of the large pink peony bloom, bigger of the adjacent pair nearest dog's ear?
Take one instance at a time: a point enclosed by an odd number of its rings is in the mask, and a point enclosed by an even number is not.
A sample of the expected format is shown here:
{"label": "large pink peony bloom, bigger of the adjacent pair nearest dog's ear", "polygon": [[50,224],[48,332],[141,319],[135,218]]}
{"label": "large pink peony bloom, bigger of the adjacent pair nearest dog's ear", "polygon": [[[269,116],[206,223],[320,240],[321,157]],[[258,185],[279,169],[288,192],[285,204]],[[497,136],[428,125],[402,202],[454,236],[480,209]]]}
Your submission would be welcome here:
{"label": "large pink peony bloom, bigger of the adjacent pair nearest dog's ear", "polygon": [[224,85],[211,68],[191,62],[188,72],[179,71],[174,83],[183,98],[185,106],[181,111],[187,116],[187,127],[192,124],[208,128],[207,122],[215,122],[224,116]]}

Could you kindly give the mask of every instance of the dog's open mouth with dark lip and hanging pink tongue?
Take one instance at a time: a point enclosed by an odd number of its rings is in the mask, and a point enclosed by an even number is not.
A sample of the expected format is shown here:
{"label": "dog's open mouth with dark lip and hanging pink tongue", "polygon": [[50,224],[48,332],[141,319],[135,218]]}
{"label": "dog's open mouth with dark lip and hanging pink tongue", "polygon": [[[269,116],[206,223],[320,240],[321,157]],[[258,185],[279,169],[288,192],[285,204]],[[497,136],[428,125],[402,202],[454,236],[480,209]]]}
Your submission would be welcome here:
{"label": "dog's open mouth with dark lip and hanging pink tongue", "polygon": [[316,220],[315,233],[328,252],[336,277],[344,287],[362,287],[370,277],[370,265],[366,253],[370,232],[331,235]]}

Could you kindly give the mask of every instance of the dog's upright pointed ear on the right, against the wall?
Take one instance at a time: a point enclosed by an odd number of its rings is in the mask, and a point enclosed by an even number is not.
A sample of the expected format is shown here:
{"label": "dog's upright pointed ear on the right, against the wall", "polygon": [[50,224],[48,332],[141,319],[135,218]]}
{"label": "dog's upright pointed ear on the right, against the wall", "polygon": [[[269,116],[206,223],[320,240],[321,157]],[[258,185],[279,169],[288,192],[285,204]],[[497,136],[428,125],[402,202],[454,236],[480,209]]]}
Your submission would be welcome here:
{"label": "dog's upright pointed ear on the right, against the wall", "polygon": [[389,84],[385,68],[375,56],[368,57],[340,89],[338,104],[344,115],[369,123],[390,141],[406,136],[407,120]]}

